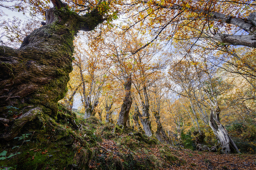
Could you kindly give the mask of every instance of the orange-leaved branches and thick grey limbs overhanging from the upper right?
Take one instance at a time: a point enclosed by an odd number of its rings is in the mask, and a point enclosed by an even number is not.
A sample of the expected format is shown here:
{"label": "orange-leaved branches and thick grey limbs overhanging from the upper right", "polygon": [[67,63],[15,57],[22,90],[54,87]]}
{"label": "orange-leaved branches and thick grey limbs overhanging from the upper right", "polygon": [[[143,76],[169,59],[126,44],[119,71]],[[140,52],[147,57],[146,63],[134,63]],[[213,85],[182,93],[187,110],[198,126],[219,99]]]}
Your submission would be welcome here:
{"label": "orange-leaved branches and thick grey limbs overhanging from the upper right", "polygon": [[200,40],[213,46],[256,47],[254,9],[255,4],[247,1],[134,0],[123,11],[138,12],[129,17],[132,22],[124,30],[138,24],[140,32],[150,32],[152,40],[137,51],[157,39],[193,39],[194,44]]}

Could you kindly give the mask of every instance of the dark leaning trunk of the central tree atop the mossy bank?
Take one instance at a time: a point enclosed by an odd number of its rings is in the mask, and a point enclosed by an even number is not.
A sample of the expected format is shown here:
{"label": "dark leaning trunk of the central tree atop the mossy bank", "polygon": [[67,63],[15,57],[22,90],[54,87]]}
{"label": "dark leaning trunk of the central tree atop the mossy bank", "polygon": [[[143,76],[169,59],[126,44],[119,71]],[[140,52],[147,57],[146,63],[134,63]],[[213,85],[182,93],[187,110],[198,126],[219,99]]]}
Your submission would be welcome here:
{"label": "dark leaning trunk of the central tree atop the mossy bank", "polygon": [[117,120],[117,125],[123,125],[126,127],[127,119],[128,119],[128,114],[130,112],[131,106],[132,106],[132,97],[131,97],[131,87],[132,87],[132,75],[128,75],[125,78],[125,83],[124,83],[124,89],[125,89],[125,97],[124,97],[124,103],[122,104],[118,120]]}

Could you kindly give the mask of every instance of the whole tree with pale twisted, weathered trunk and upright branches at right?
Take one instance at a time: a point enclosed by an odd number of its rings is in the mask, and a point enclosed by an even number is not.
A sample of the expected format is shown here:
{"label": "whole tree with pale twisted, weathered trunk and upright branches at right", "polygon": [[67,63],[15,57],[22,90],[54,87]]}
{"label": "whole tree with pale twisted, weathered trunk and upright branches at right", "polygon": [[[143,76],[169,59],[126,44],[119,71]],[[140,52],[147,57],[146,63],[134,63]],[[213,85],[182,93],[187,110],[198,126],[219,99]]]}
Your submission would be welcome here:
{"label": "whole tree with pale twisted, weathered trunk and upright branches at right", "polygon": [[[198,67],[196,66],[196,70],[198,71]],[[220,123],[220,107],[217,96],[219,96],[224,91],[228,90],[228,86],[221,81],[218,77],[213,77],[212,70],[205,63],[203,71],[206,73],[202,75],[197,72],[200,82],[200,92],[205,94],[205,97],[202,99],[209,104],[211,107],[211,113],[209,117],[209,126],[211,127],[214,135],[219,139],[221,150],[223,153],[240,153],[234,141],[230,138],[228,131],[226,128]],[[213,69],[214,70],[214,69]],[[223,87],[221,87],[223,86]],[[202,95],[203,96],[203,95]]]}

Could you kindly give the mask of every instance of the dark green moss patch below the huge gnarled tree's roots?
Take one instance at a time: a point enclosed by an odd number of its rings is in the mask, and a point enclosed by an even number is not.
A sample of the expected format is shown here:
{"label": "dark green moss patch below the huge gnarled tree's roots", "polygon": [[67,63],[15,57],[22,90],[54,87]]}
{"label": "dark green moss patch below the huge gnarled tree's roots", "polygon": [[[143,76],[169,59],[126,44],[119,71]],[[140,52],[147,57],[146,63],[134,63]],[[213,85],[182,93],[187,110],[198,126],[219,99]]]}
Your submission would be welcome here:
{"label": "dark green moss patch below the huge gnarled tree's roots", "polygon": [[[44,137],[46,138],[46,137]],[[46,139],[47,140],[47,139]],[[42,140],[45,141],[45,140]],[[13,149],[12,152],[16,150]],[[66,143],[48,143],[36,140],[27,142],[17,151],[21,152],[7,162],[0,161],[0,165],[15,167],[16,169],[70,169],[74,164],[74,152],[72,148],[66,147]]]}

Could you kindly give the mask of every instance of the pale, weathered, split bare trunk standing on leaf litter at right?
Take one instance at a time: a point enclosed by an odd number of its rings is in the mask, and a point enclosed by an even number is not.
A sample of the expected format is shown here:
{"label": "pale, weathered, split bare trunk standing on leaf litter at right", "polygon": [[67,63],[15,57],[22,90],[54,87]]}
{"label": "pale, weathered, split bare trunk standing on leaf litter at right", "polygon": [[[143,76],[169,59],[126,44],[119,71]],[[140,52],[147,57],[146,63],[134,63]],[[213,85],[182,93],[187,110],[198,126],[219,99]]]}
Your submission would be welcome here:
{"label": "pale, weathered, split bare trunk standing on leaf litter at right", "polygon": [[219,139],[222,153],[240,153],[234,141],[228,135],[226,128],[220,123],[219,110],[212,110],[209,119],[209,126],[214,135]]}

